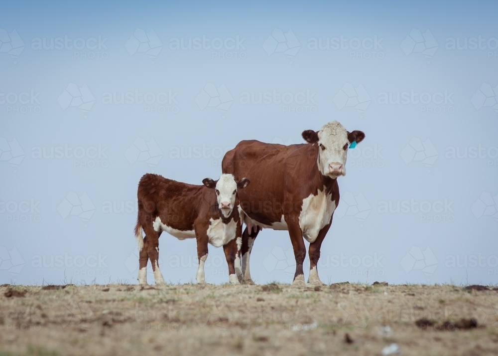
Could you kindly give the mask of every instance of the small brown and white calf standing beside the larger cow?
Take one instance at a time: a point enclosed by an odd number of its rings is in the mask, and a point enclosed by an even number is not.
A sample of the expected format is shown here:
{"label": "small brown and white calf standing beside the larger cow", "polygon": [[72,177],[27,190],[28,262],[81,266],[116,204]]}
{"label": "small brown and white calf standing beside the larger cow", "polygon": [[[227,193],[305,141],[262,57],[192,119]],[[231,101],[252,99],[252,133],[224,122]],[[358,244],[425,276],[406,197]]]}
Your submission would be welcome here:
{"label": "small brown and white calf standing beside the larger cow", "polygon": [[216,181],[205,178],[202,182],[204,185],[193,185],[153,174],[146,174],[140,179],[135,226],[140,251],[140,284],[147,284],[147,260],[152,264],[155,283],[164,283],[158,264],[159,236],[163,231],[179,240],[197,239],[197,283],[205,283],[204,262],[208,257],[208,243],[215,247],[223,246],[229,281],[239,283],[235,270],[235,263],[240,266],[240,261],[235,261],[238,259],[235,243],[239,238],[240,244],[242,235],[238,189],[247,187],[249,179],[242,178],[236,182],[234,176],[224,174]]}

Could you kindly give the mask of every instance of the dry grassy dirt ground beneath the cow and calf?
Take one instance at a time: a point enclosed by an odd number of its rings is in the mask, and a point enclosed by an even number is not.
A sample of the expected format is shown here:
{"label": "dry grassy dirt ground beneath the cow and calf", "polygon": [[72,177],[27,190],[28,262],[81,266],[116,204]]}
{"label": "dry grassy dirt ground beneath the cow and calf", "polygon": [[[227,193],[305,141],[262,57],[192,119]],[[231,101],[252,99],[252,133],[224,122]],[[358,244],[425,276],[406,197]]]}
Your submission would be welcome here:
{"label": "dry grassy dirt ground beneath the cow and calf", "polygon": [[2,285],[0,330],[1,356],[497,355],[498,290]]}

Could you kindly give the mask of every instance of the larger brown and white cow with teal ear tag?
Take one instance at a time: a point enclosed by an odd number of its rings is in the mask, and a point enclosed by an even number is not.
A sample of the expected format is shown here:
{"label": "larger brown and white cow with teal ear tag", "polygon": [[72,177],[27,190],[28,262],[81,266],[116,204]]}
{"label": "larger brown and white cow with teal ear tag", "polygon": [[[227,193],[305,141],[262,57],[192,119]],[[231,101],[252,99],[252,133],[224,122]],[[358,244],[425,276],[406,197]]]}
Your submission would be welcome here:
{"label": "larger brown and white cow with teal ear tag", "polygon": [[241,216],[245,214],[247,226],[238,254],[242,253],[246,283],[253,283],[249,273],[250,251],[263,227],[289,231],[296,258],[294,283],[304,283],[304,237],[310,243],[308,283],[322,283],[317,263],[339,203],[337,178],[346,175],[349,145],[360,143],[365,134],[348,132],[333,121],[320,131],[304,131],[302,136],[307,144],[283,146],[241,141],[223,158],[223,173],[233,174],[236,179],[247,177],[252,182],[239,193]]}

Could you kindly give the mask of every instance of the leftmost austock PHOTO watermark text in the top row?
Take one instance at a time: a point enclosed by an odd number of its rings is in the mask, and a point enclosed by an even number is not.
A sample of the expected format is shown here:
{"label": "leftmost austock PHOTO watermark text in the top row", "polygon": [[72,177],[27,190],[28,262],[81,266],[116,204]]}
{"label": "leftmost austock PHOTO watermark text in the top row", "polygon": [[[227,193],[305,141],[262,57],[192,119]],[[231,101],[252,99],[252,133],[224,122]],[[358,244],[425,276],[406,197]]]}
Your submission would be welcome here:
{"label": "leftmost austock PHOTO watermark text in the top row", "polygon": [[64,37],[35,37],[31,40],[31,49],[44,51],[71,51],[75,59],[107,59],[109,58],[107,37],[71,38]]}

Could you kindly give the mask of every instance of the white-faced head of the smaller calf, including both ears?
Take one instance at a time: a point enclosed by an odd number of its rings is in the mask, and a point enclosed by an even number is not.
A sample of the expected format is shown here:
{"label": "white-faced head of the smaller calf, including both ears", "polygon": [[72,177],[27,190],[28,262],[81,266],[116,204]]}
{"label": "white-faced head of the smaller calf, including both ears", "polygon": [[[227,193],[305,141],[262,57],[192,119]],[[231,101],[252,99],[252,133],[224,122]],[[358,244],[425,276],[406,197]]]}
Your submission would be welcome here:
{"label": "white-faced head of the smaller calf, including both ears", "polygon": [[216,182],[210,178],[206,178],[203,180],[203,183],[210,188],[215,188],[218,207],[223,216],[229,217],[235,206],[237,190],[248,186],[250,181],[247,178],[242,178],[237,183],[234,176],[223,174]]}

